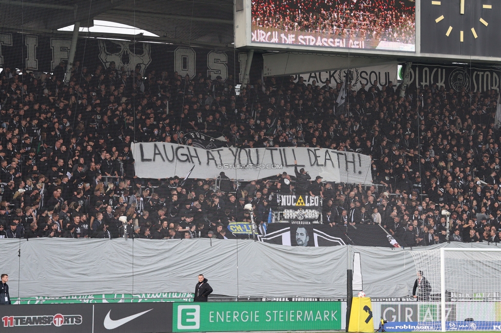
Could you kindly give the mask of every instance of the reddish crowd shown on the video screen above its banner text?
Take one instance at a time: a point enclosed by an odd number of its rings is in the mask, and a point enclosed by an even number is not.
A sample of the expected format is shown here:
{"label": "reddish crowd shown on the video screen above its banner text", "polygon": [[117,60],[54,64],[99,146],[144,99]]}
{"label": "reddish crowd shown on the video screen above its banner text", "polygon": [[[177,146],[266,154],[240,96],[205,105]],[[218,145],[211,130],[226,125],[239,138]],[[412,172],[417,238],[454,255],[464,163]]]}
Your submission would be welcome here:
{"label": "reddish crowd shown on the video screen above its banner text", "polygon": [[362,0],[258,0],[253,25],[284,31],[319,32],[365,40],[414,44],[414,2]]}

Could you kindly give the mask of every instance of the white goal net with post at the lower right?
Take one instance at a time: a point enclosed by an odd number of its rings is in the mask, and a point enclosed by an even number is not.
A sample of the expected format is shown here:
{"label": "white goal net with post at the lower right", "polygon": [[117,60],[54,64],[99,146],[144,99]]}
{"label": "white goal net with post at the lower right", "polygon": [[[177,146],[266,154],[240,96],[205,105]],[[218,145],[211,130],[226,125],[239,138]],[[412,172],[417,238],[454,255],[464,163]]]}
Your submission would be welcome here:
{"label": "white goal net with post at the lower right", "polygon": [[411,252],[419,330],[501,329],[501,249]]}

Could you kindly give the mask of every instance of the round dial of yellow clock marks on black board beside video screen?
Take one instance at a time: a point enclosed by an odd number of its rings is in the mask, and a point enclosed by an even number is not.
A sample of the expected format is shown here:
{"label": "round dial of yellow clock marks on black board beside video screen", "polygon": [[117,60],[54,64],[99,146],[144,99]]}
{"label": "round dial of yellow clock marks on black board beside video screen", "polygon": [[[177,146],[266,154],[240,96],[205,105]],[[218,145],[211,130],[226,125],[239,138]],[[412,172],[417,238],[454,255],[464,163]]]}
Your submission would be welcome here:
{"label": "round dial of yellow clock marks on black board beside video screen", "polygon": [[[445,33],[445,35],[449,38],[458,38],[459,42],[461,43],[463,43],[468,38],[470,38],[470,40],[477,39],[478,35],[483,33],[484,31],[477,31],[475,27],[467,26],[465,22],[467,22],[468,20],[463,19],[463,17],[461,16],[471,15],[473,12],[484,13],[485,11],[492,10],[492,5],[485,4],[482,1],[477,0],[433,0],[431,1],[431,4],[433,7],[442,6],[443,3],[451,1],[459,3],[459,10],[456,10],[456,13],[454,13],[454,11],[449,11],[447,14],[441,14],[440,16],[435,18],[435,23],[438,25],[437,33]],[[471,5],[466,6],[465,8],[465,2],[471,2]],[[471,10],[473,6],[481,6],[480,11]],[[480,17],[474,18],[474,20],[478,20],[478,22],[480,22],[485,27],[489,26],[487,20],[485,20],[481,15]],[[442,32],[440,32],[441,28],[444,28]]]}

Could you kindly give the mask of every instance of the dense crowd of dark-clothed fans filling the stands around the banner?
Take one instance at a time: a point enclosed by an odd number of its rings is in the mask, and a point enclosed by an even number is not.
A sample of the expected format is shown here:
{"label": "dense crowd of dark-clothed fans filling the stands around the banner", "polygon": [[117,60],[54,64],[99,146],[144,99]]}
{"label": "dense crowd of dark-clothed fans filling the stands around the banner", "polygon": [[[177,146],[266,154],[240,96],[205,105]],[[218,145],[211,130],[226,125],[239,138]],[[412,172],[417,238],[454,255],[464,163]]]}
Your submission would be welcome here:
{"label": "dense crowd of dark-clothed fans filling the stands around the banner", "polygon": [[[322,198],[323,226],[371,245],[357,225],[380,224],[401,245],[498,242],[501,167],[494,126],[498,92],[438,87],[319,87],[300,77],[255,80],[235,94],[211,80],[139,69],[86,68],[53,74],[0,73],[0,237],[233,238],[230,222],[268,221],[281,195]],[[374,185],[307,174],[241,183],[134,175],[133,141],[194,144],[185,134],[236,147],[319,147],[372,156]],[[307,170],[306,170],[307,171]],[[184,176],[184,175],[180,175]],[[315,175],[313,175],[315,176]],[[288,181],[284,181],[287,178]],[[358,230],[362,230],[359,228]],[[248,236],[245,236],[248,237]]]}

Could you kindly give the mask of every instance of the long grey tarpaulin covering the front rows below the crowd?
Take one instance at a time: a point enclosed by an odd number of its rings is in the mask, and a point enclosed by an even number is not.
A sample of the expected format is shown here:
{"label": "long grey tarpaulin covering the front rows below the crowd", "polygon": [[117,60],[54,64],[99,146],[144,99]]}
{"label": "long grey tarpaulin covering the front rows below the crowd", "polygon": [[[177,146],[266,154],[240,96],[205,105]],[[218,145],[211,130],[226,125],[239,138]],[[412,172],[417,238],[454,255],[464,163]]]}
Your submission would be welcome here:
{"label": "long grey tarpaulin covering the front rows below the crowd", "polygon": [[20,297],[193,292],[202,273],[220,295],[345,298],[349,249],[360,253],[363,288],[371,297],[407,296],[416,276],[407,249],[209,239],[38,238],[0,244],[0,272],[9,274],[11,294]]}

